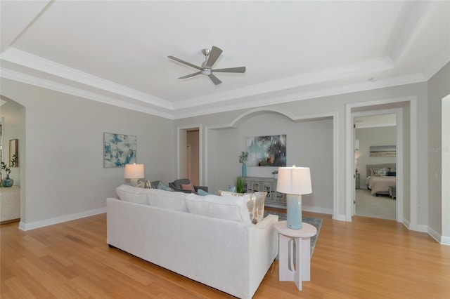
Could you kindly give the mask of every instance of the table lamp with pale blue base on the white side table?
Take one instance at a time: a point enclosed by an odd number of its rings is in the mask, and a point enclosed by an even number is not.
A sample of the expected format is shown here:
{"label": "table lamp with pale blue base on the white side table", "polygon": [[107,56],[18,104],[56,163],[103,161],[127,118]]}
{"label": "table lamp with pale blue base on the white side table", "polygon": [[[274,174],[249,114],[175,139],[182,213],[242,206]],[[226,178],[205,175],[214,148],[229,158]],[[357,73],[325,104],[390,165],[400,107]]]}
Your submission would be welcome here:
{"label": "table lamp with pale blue base on the white side table", "polygon": [[308,167],[280,167],[276,191],[286,194],[288,227],[302,228],[302,194],[312,193],[311,173]]}

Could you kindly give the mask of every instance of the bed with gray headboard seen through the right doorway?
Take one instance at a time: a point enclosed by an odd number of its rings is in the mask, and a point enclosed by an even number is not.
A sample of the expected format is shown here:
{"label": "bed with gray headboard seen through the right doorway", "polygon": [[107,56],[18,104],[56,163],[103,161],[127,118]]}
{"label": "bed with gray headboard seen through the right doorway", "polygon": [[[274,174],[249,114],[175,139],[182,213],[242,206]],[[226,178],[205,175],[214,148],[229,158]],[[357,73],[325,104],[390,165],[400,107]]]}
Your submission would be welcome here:
{"label": "bed with gray headboard seen through the right doorway", "polygon": [[366,166],[366,184],[372,195],[389,195],[389,187],[397,185],[395,167],[395,163],[368,164]]}

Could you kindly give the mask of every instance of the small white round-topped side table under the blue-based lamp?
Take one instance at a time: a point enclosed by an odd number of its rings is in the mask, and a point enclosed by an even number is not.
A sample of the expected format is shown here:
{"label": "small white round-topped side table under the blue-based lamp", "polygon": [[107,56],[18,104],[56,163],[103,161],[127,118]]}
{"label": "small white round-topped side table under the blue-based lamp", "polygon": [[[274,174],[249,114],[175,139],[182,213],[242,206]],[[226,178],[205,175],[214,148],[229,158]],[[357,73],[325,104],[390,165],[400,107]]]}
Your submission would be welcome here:
{"label": "small white round-topped side table under the blue-based lamp", "polygon": [[[297,288],[302,291],[302,281],[311,280],[311,237],[317,234],[317,229],[309,223],[302,222],[300,230],[292,230],[288,228],[287,221],[277,222],[274,227],[280,234],[279,279],[294,281]],[[293,241],[295,241],[295,267]]]}

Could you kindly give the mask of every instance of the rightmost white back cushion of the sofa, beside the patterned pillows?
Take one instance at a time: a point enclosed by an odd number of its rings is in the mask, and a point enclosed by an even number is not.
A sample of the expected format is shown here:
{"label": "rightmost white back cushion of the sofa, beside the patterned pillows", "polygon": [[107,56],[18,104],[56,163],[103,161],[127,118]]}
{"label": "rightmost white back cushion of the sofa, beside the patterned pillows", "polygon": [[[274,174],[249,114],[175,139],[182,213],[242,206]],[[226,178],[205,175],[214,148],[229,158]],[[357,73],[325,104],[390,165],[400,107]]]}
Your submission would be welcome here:
{"label": "rightmost white back cushion of the sofa, beside the patterned pillows", "polygon": [[188,212],[212,218],[251,223],[247,209],[250,194],[244,197],[189,194],[186,197]]}

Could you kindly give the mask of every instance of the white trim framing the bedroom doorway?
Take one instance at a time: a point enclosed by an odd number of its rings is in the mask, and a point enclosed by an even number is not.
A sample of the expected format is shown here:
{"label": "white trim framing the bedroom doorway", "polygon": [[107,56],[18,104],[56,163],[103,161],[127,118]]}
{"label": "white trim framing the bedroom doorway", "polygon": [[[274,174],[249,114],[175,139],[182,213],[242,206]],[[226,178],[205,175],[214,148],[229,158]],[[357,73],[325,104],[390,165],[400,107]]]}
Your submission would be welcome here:
{"label": "white trim framing the bedroom doorway", "polygon": [[[393,108],[393,109],[379,109],[379,110],[368,110],[365,112],[353,112],[352,108],[355,107],[369,107],[369,106],[375,106],[375,105],[385,105],[385,104],[391,104],[391,103],[399,103],[399,102],[409,102],[410,105],[410,144],[409,147],[411,149],[411,157],[410,157],[410,165],[411,165],[411,172],[410,172],[410,220],[407,221],[404,219],[403,215],[403,201],[404,201],[404,195],[401,192],[398,192],[397,197],[397,213],[396,218],[397,221],[402,221],[406,227],[408,227],[409,230],[417,230],[417,231],[423,231],[424,227],[418,227],[417,225],[417,190],[416,187],[417,184],[417,169],[414,169],[414,166],[417,168],[417,162],[418,162],[418,156],[417,156],[417,136],[415,135],[415,132],[417,132],[417,98],[415,96],[409,96],[409,97],[401,97],[401,98],[392,98],[392,99],[384,99],[384,100],[374,100],[369,102],[357,102],[352,104],[347,104],[345,107],[346,112],[346,183],[345,186],[347,187],[347,190],[345,191],[345,215],[346,219],[348,220],[351,218],[351,212],[352,212],[352,177],[353,177],[353,169],[354,169],[354,152],[353,152],[353,120],[354,116],[366,116],[366,115],[373,115],[373,114],[392,114],[394,112],[397,114],[397,152],[401,154],[404,144],[403,144],[403,138],[401,137],[401,133],[403,130],[403,112],[401,108]],[[397,190],[403,190],[404,188],[404,164],[403,164],[403,157],[397,155],[397,169],[399,170],[399,178],[397,179]],[[420,229],[420,230],[419,230]],[[427,230],[425,229],[425,232]]]}

